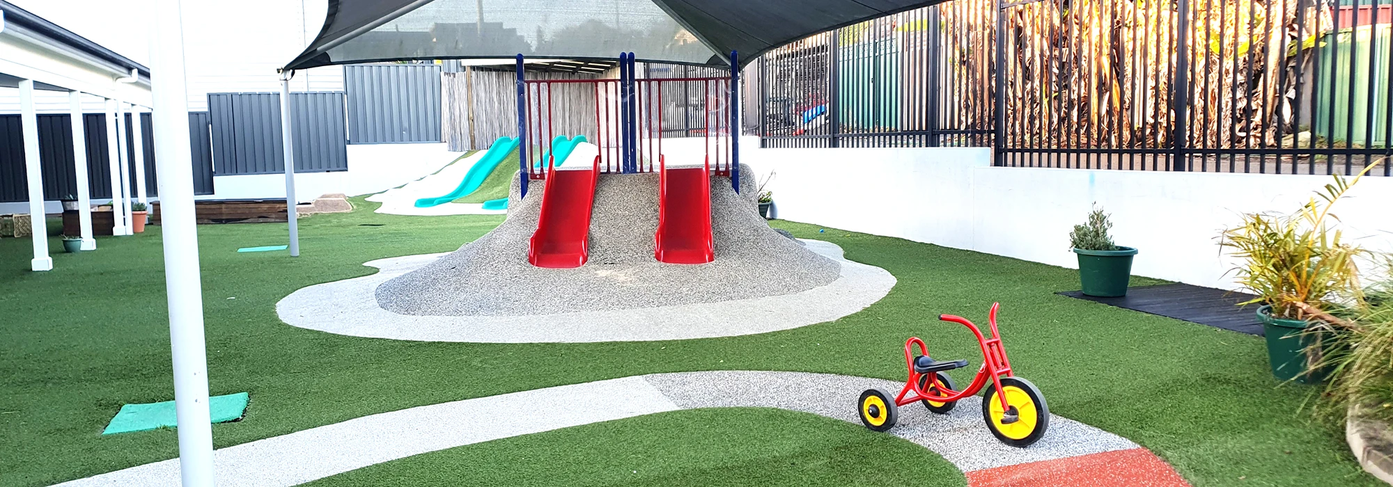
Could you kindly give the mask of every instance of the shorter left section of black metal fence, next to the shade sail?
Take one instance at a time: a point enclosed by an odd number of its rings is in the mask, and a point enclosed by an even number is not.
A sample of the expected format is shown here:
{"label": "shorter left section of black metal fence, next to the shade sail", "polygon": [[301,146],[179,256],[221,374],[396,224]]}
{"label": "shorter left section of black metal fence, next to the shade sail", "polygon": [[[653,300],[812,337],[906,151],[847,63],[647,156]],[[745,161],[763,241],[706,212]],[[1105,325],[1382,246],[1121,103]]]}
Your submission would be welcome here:
{"label": "shorter left section of black metal fence, next to the shade sail", "polygon": [[765,54],[762,146],[990,145],[993,4],[911,10]]}

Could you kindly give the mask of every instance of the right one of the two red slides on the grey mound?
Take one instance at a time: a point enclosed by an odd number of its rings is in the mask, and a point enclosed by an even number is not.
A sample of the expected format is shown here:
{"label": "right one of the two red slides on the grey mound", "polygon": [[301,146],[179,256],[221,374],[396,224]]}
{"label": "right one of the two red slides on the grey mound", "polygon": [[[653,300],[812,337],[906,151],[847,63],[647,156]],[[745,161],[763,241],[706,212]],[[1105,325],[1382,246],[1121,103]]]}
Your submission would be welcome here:
{"label": "right one of the two red slides on the grey mound", "polygon": [[657,235],[653,256],[670,264],[716,259],[710,237],[710,173],[706,167],[667,168],[657,184]]}

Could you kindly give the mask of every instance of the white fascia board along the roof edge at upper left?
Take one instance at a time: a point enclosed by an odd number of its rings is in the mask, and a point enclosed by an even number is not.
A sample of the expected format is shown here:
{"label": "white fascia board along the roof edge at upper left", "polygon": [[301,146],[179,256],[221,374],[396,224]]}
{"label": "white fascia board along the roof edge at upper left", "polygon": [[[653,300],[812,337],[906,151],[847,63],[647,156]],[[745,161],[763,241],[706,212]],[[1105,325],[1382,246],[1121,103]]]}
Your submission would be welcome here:
{"label": "white fascia board along the roof edge at upper left", "polygon": [[28,36],[14,25],[0,31],[0,72],[145,107],[152,104],[149,79],[118,83],[116,79],[130,72]]}

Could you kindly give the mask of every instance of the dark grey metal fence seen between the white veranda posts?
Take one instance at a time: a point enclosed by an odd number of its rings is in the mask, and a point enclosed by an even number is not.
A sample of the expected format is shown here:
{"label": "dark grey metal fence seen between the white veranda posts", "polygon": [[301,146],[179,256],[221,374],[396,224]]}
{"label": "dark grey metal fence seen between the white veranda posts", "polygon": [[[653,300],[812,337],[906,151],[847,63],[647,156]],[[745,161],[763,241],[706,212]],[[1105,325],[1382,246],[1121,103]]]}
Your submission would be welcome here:
{"label": "dark grey metal fence seen between the white veranda posts", "polygon": [[[157,193],[157,175],[155,173],[155,143],[150,129],[150,114],[142,114],[142,139],[145,141],[145,177],[148,195]],[[127,121],[130,121],[127,114]],[[206,178],[199,177],[201,166],[208,167],[210,147],[206,135],[206,113],[189,113],[189,124],[203,120],[205,135],[191,134],[189,142],[194,149],[194,193],[212,195],[213,179],[206,168]],[[39,121],[39,163],[43,167],[43,198],[57,200],[67,195],[77,195],[77,174],[74,174],[72,157],[72,125],[67,114],[43,114]],[[106,114],[89,113],[82,117],[86,131],[86,159],[88,159],[88,192],[92,199],[111,198],[110,166],[107,163],[106,143]],[[131,127],[127,124],[127,135]],[[24,134],[20,125],[20,115],[0,115],[0,202],[26,202],[29,188],[24,166]],[[127,156],[134,154],[135,142],[127,138]],[[130,160],[134,164],[134,160]],[[134,166],[128,171],[131,185],[135,185]]]}

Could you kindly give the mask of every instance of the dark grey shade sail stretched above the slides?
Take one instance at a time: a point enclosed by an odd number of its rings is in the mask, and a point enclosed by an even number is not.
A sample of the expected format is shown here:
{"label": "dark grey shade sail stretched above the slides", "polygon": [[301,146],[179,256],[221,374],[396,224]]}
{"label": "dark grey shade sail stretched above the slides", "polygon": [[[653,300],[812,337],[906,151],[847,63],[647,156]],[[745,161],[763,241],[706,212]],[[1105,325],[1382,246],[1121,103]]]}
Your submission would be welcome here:
{"label": "dark grey shade sail stretched above the slides", "polygon": [[511,57],[741,65],[843,25],[943,0],[329,0],[319,36],[286,65]]}

